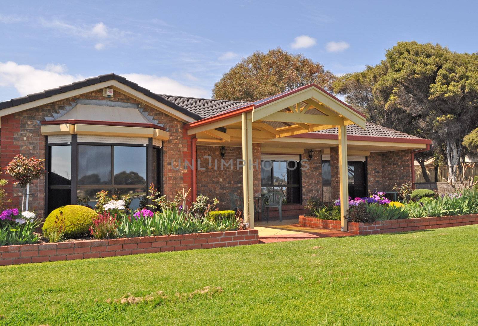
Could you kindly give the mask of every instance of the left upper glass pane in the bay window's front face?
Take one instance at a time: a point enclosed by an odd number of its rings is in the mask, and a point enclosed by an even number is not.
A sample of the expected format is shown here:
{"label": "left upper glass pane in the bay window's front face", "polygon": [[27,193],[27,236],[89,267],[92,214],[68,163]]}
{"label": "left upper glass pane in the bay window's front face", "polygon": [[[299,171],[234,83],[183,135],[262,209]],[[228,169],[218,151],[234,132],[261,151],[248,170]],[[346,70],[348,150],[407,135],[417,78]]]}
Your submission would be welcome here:
{"label": "left upper glass pane in the bay window's front face", "polygon": [[111,146],[78,145],[78,184],[111,184]]}

